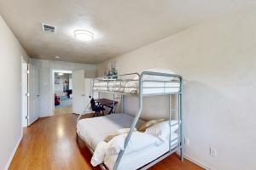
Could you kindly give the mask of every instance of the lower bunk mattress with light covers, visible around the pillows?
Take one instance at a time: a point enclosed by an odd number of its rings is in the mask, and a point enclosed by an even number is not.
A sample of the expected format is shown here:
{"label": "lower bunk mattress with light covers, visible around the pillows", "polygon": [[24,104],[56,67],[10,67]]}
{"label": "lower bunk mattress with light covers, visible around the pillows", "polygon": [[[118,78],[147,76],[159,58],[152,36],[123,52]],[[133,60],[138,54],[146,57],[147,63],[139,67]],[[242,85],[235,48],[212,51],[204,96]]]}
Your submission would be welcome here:
{"label": "lower bunk mattress with light covers, visible around the pillows", "polygon": [[[77,124],[77,133],[90,150],[96,150],[97,144],[102,142],[110,133],[120,128],[129,128],[134,120],[134,116],[125,113],[116,113],[109,116],[100,116],[79,120]],[[144,123],[143,120],[137,122],[137,128]],[[172,133],[172,149],[177,146],[178,135]],[[129,154],[125,154],[120,163],[120,170],[138,169],[154,161],[169,150],[169,140],[160,145],[150,145],[143,150],[137,150]],[[118,155],[106,155],[104,164],[108,169],[112,170]]]}

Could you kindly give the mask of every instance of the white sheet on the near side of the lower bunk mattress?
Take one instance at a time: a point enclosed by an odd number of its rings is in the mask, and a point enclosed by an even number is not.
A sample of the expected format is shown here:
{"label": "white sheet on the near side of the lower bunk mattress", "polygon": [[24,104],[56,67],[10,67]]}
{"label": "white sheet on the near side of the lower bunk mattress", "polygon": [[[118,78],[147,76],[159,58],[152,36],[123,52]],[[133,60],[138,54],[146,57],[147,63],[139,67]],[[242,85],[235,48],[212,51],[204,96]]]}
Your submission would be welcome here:
{"label": "white sheet on the near side of the lower bunk mattress", "polygon": [[[172,133],[174,141],[172,141],[172,149],[177,146],[177,133]],[[165,143],[160,144],[159,146],[153,144],[143,150],[138,150],[131,154],[124,154],[120,163],[119,170],[135,170],[139,167],[143,167],[151,161],[154,161],[156,158],[162,156],[169,150],[169,140],[166,140]],[[113,169],[114,163],[117,159],[117,155],[107,155],[104,158],[104,164],[108,167],[109,170]]]}

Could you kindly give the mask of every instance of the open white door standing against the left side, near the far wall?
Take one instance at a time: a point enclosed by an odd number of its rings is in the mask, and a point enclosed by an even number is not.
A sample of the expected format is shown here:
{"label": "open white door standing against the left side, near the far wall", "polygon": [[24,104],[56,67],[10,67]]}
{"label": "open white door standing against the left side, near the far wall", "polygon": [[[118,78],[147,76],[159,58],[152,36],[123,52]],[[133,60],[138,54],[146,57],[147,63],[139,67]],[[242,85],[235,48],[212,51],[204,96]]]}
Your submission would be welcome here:
{"label": "open white door standing against the left side, near the far wall", "polygon": [[29,111],[28,111],[28,126],[38,120],[38,68],[34,65],[29,65],[28,74],[28,92],[29,92]]}

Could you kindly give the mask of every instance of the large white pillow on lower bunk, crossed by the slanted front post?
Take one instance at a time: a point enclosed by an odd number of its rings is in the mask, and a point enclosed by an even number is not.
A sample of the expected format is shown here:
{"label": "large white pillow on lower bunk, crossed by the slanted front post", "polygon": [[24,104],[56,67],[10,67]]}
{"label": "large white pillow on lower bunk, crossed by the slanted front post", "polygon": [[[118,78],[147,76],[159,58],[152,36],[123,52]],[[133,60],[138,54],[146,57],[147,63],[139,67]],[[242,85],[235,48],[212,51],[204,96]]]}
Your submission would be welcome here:
{"label": "large white pillow on lower bunk, crossed by the slanted front post", "polygon": [[[120,134],[119,136],[116,136],[113,139],[111,139],[108,142],[109,147],[105,153],[108,155],[116,155],[116,154],[119,154],[120,150],[124,150],[126,136],[127,136],[127,133]],[[160,139],[156,138],[153,135],[150,135],[147,133],[133,132],[131,134],[131,139],[129,140],[129,143],[126,147],[125,154],[131,153],[137,150],[143,150],[144,148],[152,144],[159,145],[162,143],[163,142]]]}

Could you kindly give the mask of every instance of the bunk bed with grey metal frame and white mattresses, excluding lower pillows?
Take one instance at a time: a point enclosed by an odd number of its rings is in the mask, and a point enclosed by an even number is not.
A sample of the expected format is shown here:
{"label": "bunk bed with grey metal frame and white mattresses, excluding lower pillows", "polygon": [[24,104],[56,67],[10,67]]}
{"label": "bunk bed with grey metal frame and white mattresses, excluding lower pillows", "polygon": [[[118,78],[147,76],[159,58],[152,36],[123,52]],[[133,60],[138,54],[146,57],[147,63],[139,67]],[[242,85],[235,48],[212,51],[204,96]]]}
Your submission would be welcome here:
{"label": "bunk bed with grey metal frame and white mattresses, excluding lower pillows", "polygon": [[[137,96],[139,102],[139,110],[136,116],[116,113],[109,116],[81,120],[79,119],[82,114],[79,116],[77,134],[88,146],[92,154],[94,154],[97,145],[109,133],[120,128],[130,127],[125,136],[124,147],[116,154],[106,155],[104,161],[100,164],[102,169],[148,169],[177,151],[180,151],[180,157],[183,161],[183,77],[165,72],[143,71],[141,74],[119,75],[115,79],[111,77],[95,78],[92,81],[91,89],[91,96],[93,96],[94,92],[113,94],[113,101],[115,100],[115,95],[120,94],[123,112],[125,111],[126,95]],[[145,96],[161,95],[169,96],[168,138],[163,140],[161,144],[150,144],[148,147],[130,153],[130,149],[127,149],[131,143],[130,140],[132,140],[133,134],[136,134],[136,129],[144,122],[140,119],[143,111],[143,98]],[[177,108],[174,109],[171,106],[172,95],[177,96]],[[113,109],[113,111],[115,110]],[[177,113],[177,120],[172,120],[172,113]]]}

